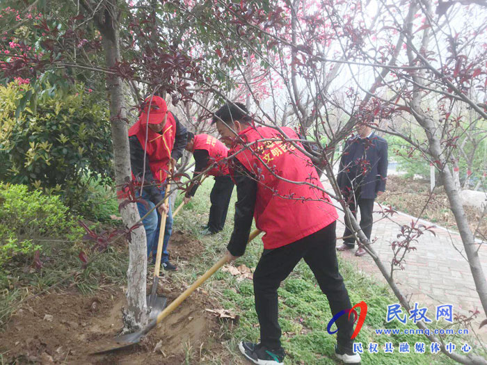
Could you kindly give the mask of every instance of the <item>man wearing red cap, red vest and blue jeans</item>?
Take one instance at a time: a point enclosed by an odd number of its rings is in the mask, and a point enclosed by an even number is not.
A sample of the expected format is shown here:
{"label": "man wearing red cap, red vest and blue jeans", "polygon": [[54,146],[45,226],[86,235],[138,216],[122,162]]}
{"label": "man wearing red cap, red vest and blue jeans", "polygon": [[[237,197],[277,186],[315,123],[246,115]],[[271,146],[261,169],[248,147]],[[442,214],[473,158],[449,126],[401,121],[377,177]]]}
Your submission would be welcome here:
{"label": "man wearing red cap, red vest and blue jeans", "polygon": [[[164,185],[168,175],[169,163],[174,166],[182,156],[186,145],[186,128],[177,117],[168,111],[164,99],[158,96],[145,99],[138,121],[129,129],[130,163],[134,177],[143,179],[142,198],[148,204],[137,202],[138,211],[144,216],[164,199]],[[161,204],[144,218],[143,225],[147,236],[147,258],[152,252],[155,263],[161,214],[167,213],[166,229],[163,238],[161,266],[165,270],[177,270],[169,262],[168,243],[173,232],[173,214],[170,206]]]}

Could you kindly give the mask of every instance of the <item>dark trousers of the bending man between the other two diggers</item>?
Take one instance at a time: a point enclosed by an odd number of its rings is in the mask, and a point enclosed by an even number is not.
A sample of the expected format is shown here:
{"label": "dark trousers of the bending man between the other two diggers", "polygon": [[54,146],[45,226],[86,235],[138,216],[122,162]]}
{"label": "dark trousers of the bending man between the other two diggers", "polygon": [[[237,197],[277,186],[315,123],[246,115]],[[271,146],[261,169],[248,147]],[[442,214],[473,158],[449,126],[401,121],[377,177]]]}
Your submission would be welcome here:
{"label": "dark trousers of the bending man between the other two diggers", "polygon": [[220,232],[225,226],[233,185],[230,175],[215,177],[215,184],[209,195],[211,208],[209,209],[208,229],[211,232]]}

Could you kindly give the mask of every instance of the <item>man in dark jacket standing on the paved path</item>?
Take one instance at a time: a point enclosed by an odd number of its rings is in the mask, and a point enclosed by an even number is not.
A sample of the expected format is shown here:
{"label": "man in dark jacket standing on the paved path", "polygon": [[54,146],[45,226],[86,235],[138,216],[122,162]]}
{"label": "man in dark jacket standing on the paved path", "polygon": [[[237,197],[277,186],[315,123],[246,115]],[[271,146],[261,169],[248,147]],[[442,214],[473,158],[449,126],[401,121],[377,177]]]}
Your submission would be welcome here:
{"label": "man in dark jacket standing on the paved path", "polygon": [[[360,208],[360,228],[370,239],[374,200],[385,191],[388,177],[388,143],[377,136],[367,124],[359,124],[357,134],[346,141],[337,182],[353,216]],[[353,228],[345,216],[344,243],[339,251],[351,250],[355,245]],[[356,256],[367,252],[359,247]]]}

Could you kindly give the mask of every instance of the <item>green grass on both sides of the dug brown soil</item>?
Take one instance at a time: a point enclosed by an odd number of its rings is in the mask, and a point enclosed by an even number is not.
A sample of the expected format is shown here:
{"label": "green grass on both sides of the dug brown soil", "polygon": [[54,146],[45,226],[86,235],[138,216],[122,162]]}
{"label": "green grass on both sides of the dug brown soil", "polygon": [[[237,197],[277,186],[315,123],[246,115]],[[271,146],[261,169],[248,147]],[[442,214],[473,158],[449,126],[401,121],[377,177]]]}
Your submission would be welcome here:
{"label": "green grass on both sides of the dug brown soil", "polygon": [[[202,273],[212,266],[226,251],[226,245],[232,232],[234,216],[234,200],[232,197],[227,216],[227,225],[223,232],[215,236],[201,236],[200,226],[207,223],[209,212],[209,193],[214,184],[213,179],[207,179],[198,189],[196,196],[188,206],[175,218],[173,229],[180,229],[198,238],[203,245],[202,252],[190,261],[177,262],[179,270],[168,274],[170,282],[180,287],[187,287]],[[175,206],[182,198],[179,196]],[[105,207],[106,216],[116,214],[116,204],[110,203]],[[96,224],[95,224],[96,225]],[[98,225],[97,230],[104,227]],[[70,241],[49,240],[42,241],[42,270],[34,270],[30,263],[20,264],[11,262],[3,268],[0,280],[0,325],[8,321],[10,312],[15,310],[19,300],[33,293],[40,293],[50,289],[75,268],[79,268],[78,254],[80,250],[89,251],[92,243],[79,243]],[[245,264],[248,268],[255,268],[263,246],[260,238],[256,238],[248,245],[246,254],[237,260],[235,266]],[[113,286],[122,287],[127,283],[127,245],[125,241],[113,243],[106,254],[99,255],[93,263],[77,275],[70,276],[63,282],[63,288],[77,287],[81,293],[95,293],[98,289]],[[445,355],[429,353],[429,341],[420,335],[377,335],[375,330],[381,328],[415,328],[409,322],[401,325],[399,322],[385,323],[386,307],[396,303],[387,286],[380,284],[374,277],[358,273],[356,268],[347,261],[340,260],[340,272],[344,276],[352,304],[365,301],[368,305],[367,318],[356,341],[362,343],[365,352],[362,354],[362,364],[454,364]],[[206,348],[189,348],[186,351],[186,364],[248,364],[239,353],[238,343],[242,339],[248,341],[259,340],[259,324],[254,309],[253,283],[250,279],[239,279],[228,272],[218,271],[205,284],[204,290],[225,309],[232,309],[240,316],[238,323],[223,323],[221,330],[216,331],[218,350]],[[317,287],[308,266],[301,261],[294,272],[282,283],[279,291],[280,297],[280,325],[282,327],[282,346],[287,352],[285,364],[335,364],[333,347],[335,335],[326,331],[326,326],[332,318],[328,308],[326,296]],[[191,301],[191,297],[187,299]],[[441,323],[442,325],[442,323]],[[429,326],[435,328],[433,324]],[[440,327],[440,325],[438,325]],[[335,326],[333,326],[335,330]],[[215,341],[213,337],[207,340]],[[461,338],[445,338],[445,341],[454,341],[456,352],[465,341]],[[367,345],[370,342],[378,344],[378,353],[370,354]],[[392,343],[394,352],[386,354],[386,342]],[[409,343],[410,353],[399,353],[399,343]],[[416,342],[424,342],[426,353],[415,353]],[[196,361],[195,353],[205,352],[204,361]],[[207,350],[207,351],[205,351]],[[201,357],[200,357],[201,358]],[[0,353],[0,364],[3,363]]]}

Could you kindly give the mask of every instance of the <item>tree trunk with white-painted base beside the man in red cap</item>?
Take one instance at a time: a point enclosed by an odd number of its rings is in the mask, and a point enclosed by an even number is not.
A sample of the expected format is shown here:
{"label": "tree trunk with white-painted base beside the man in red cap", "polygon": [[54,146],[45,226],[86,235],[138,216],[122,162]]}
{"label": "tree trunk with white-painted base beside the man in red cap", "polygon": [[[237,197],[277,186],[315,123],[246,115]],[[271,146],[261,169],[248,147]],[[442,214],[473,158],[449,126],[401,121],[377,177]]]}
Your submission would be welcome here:
{"label": "tree trunk with white-painted base beside the man in red cap", "polygon": [[[103,36],[106,67],[111,68],[120,61],[120,42],[117,1],[106,5],[103,15],[99,15],[97,26]],[[115,165],[115,183],[118,187],[131,179],[129,137],[125,118],[125,95],[122,79],[113,74],[106,74],[109,90],[111,134],[113,140],[113,159]],[[121,202],[121,200],[120,200]],[[134,227],[140,220],[137,206],[128,204],[120,211],[126,227]],[[127,270],[127,308],[124,311],[125,332],[138,330],[147,324],[147,303],[145,300],[145,275],[147,273],[147,244],[143,227],[133,229],[129,240],[129,270]]]}

